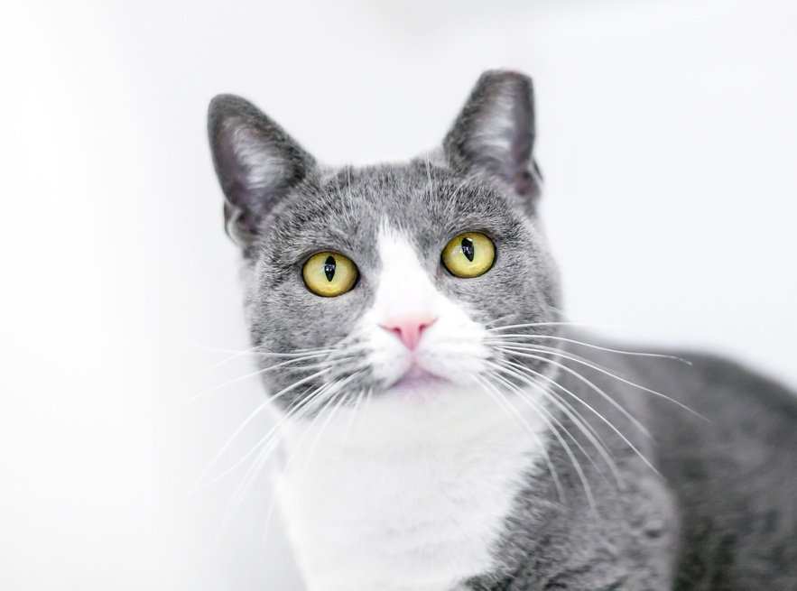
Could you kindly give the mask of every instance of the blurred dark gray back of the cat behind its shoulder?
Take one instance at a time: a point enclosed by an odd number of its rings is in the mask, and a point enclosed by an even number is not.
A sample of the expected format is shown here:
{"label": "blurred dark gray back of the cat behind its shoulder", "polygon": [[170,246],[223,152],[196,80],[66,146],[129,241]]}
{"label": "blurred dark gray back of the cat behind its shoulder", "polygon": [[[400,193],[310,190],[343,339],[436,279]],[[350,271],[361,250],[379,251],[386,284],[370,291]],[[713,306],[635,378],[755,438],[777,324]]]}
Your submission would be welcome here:
{"label": "blurred dark gray back of the cat behind its shoulder", "polygon": [[673,355],[589,356],[662,394],[612,387],[675,500],[674,588],[797,589],[797,395],[718,356]]}

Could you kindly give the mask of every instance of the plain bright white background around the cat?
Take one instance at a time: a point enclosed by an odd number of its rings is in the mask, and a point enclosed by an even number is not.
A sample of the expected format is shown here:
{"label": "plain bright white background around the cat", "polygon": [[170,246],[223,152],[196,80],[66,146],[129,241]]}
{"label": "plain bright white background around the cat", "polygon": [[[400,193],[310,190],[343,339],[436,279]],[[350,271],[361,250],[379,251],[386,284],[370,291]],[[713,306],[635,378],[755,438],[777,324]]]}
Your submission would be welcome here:
{"label": "plain bright white background around the cat", "polygon": [[220,92],[365,163],[438,143],[483,69],[524,70],[571,316],[797,385],[795,31],[791,0],[6,0],[0,587],[297,588],[262,480],[224,527],[244,470],[187,493],[263,396],[187,402],[253,367],[208,371],[247,346]]}

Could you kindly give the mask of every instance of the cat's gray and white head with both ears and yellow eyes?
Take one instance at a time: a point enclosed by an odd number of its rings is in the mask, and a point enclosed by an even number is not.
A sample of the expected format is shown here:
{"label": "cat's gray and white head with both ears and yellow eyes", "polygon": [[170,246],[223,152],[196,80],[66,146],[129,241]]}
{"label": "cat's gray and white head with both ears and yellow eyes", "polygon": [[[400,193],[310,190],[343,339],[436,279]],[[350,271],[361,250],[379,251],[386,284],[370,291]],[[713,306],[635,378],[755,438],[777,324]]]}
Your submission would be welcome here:
{"label": "cat's gray and white head with both ears and yellow eyes", "polygon": [[496,365],[544,369],[500,346],[558,319],[529,78],[484,74],[442,150],[408,164],[323,167],[228,95],[210,104],[209,135],[251,337],[286,405],[417,398],[487,387]]}

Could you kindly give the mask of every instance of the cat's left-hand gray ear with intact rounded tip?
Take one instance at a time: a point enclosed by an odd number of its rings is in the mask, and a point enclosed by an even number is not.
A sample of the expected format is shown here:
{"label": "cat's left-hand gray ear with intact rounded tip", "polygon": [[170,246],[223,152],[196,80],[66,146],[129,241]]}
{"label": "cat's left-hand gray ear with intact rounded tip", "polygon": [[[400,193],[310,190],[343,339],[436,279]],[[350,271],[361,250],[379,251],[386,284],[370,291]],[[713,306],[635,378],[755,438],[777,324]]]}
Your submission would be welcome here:
{"label": "cat's left-hand gray ear with intact rounded tip", "polygon": [[210,101],[208,134],[218,182],[224,191],[229,235],[245,253],[263,218],[315,167],[282,127],[241,97]]}

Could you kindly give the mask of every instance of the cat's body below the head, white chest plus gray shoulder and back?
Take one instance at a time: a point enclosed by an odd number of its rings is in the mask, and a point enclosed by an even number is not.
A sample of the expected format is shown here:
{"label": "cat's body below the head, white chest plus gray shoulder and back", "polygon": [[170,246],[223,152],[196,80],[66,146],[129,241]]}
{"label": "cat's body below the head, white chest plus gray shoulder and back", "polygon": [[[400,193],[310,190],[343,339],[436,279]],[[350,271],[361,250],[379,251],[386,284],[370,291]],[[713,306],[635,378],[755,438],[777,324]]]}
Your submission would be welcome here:
{"label": "cat's body below the head, white chest plus gray shoulder and back", "polygon": [[[302,567],[318,577],[310,588],[451,589],[457,576],[477,574],[466,588],[797,589],[792,392],[714,357],[681,354],[685,365],[570,349],[691,409],[562,360],[650,430],[651,438],[644,436],[579,378],[559,379],[661,477],[586,407],[579,411],[612,451],[619,486],[588,437],[566,413],[554,413],[602,471],[568,439],[595,510],[574,464],[554,445],[551,462],[568,483],[560,502],[533,442],[524,454],[525,429],[492,413],[494,402],[480,414],[472,400],[456,407],[473,411],[457,422],[472,428],[467,434],[436,423],[413,423],[402,433],[400,425],[417,420],[422,407],[363,413],[351,427],[350,414],[340,411],[330,423],[336,426],[321,434],[314,461],[308,466],[297,456],[295,481],[281,489]],[[476,424],[468,422],[474,416]],[[475,437],[482,445],[473,446]],[[336,586],[338,577],[344,581]]]}

